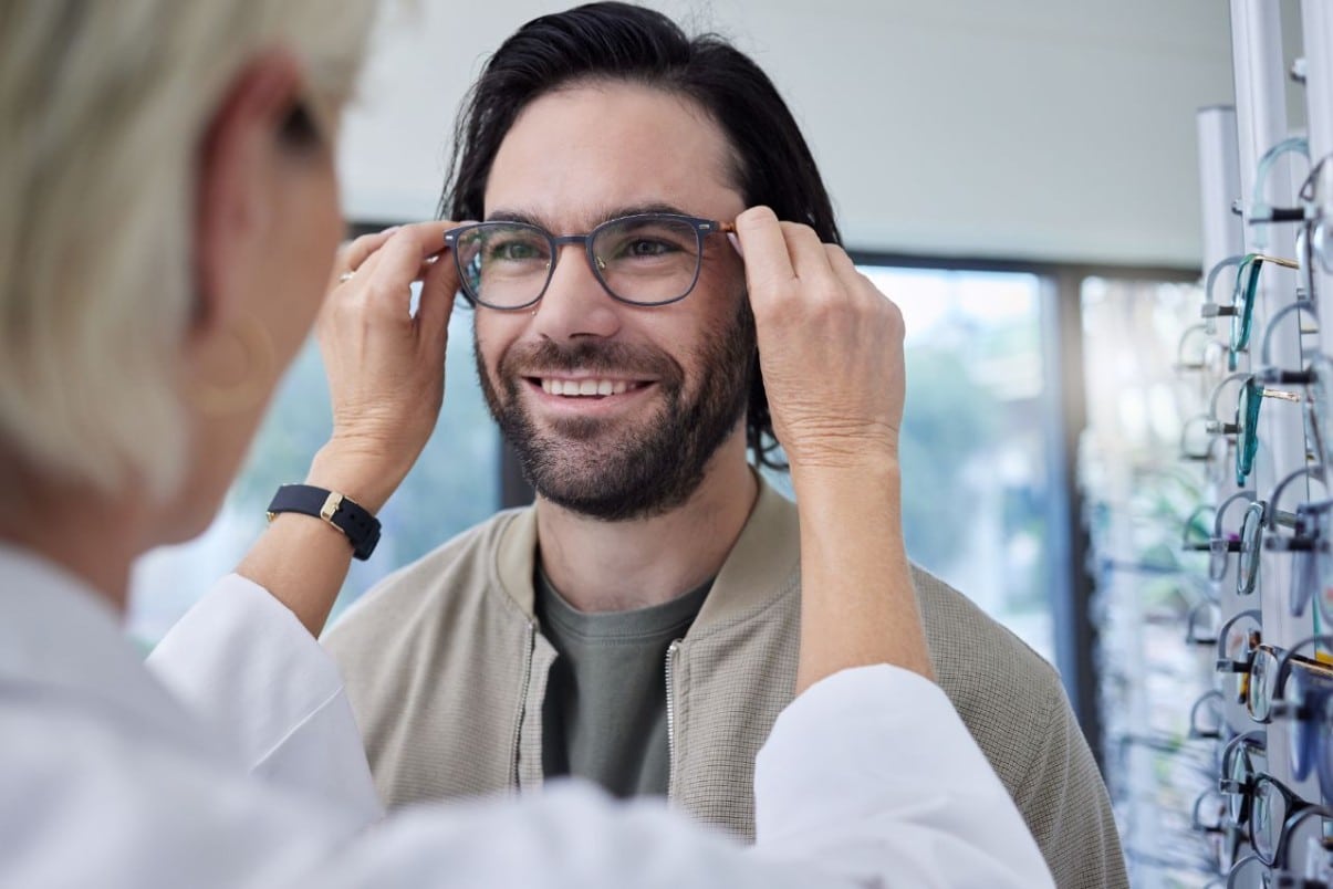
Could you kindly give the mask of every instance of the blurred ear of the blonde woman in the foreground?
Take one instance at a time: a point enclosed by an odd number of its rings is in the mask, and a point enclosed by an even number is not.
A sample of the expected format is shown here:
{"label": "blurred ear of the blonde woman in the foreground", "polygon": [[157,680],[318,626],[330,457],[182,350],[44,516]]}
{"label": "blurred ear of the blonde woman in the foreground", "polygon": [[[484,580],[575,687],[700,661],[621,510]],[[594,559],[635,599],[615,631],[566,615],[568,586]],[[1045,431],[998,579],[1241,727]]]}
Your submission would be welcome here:
{"label": "blurred ear of the blonde woman in the foreground", "polygon": [[272,176],[283,124],[304,99],[296,59],[256,56],[227,88],[196,155],[193,331],[224,327],[239,308],[273,217]]}

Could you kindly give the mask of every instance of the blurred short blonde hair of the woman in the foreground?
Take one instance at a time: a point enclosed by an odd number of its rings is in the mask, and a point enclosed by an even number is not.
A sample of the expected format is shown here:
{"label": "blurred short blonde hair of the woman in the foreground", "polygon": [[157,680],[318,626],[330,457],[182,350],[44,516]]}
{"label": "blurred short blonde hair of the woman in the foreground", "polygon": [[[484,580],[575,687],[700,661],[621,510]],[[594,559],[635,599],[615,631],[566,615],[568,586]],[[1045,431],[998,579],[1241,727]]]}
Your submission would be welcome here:
{"label": "blurred short blonde hair of the woman in the foreground", "polygon": [[375,0],[0,0],[0,443],[24,465],[167,496],[193,307],[199,145],[260,52],[336,117]]}

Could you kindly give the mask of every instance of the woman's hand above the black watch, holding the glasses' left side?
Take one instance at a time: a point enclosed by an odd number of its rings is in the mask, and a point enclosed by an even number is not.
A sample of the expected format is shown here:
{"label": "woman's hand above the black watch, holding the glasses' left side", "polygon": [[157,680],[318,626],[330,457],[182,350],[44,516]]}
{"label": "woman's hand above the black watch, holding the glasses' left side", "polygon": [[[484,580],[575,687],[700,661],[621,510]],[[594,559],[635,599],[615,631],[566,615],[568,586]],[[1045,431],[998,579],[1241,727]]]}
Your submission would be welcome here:
{"label": "woman's hand above the black watch, holding the glasses' left side", "polygon": [[[376,513],[435,429],[459,280],[444,253],[456,223],[365,235],[339,251],[317,337],[333,403],[333,435],[308,481]],[[348,275],[351,275],[348,277]],[[411,285],[421,281],[417,313]]]}

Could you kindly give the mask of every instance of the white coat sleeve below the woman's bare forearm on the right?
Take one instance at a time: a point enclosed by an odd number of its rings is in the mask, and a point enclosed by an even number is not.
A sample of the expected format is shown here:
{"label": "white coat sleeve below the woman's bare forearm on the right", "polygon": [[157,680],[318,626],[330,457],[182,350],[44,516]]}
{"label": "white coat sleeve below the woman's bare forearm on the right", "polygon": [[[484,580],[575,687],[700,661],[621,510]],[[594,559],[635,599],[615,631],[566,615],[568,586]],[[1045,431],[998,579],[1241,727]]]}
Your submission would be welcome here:
{"label": "white coat sleeve below the woman's bare forearm on the right", "polygon": [[778,717],[754,769],[757,856],[880,885],[1049,886],[1045,858],[938,685],[844,670]]}

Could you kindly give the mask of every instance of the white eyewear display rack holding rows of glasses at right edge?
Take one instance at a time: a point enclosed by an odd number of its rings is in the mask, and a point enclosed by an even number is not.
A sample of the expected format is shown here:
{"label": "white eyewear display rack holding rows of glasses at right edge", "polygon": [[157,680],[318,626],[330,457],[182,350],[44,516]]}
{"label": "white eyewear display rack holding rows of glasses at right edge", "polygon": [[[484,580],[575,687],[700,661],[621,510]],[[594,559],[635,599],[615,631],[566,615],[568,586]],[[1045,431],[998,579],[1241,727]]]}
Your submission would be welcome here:
{"label": "white eyewear display rack holding rows of glasses at right edge", "polygon": [[1198,116],[1206,275],[1180,360],[1206,392],[1182,549],[1206,560],[1185,644],[1213,657],[1181,746],[1206,764],[1190,826],[1210,874],[1140,885],[1310,889],[1333,880],[1333,3],[1302,0],[1290,69],[1277,3],[1230,17],[1236,107]]}

